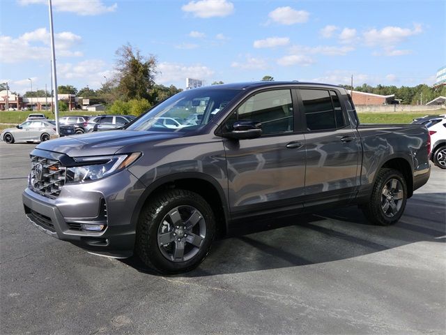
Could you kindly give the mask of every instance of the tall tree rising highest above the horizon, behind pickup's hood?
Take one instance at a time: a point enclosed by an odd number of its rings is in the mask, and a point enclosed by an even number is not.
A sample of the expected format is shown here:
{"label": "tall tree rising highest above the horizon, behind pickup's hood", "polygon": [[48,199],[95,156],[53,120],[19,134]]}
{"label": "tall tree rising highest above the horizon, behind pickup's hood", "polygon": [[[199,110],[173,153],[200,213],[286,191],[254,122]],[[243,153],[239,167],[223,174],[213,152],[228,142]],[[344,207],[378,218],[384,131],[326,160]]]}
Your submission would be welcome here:
{"label": "tall tree rising highest above the horizon, behind pickup's hood", "polygon": [[156,59],[144,57],[141,52],[127,44],[116,50],[118,90],[125,101],[145,98],[153,101],[150,94],[155,84]]}

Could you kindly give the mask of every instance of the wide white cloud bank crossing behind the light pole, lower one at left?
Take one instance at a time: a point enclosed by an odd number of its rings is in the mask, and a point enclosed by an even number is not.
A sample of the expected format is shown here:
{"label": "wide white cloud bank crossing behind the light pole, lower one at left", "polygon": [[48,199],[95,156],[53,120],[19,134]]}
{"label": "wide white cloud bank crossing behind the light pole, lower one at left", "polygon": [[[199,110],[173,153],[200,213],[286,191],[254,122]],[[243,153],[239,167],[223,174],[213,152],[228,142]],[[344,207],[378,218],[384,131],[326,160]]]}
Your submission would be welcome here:
{"label": "wide white cloud bank crossing behind the light pole, lower one at left", "polygon": [[[82,57],[72,50],[82,38],[70,31],[54,35],[56,57]],[[46,28],[29,31],[18,38],[0,36],[0,62],[20,63],[27,60],[50,59],[50,36]]]}

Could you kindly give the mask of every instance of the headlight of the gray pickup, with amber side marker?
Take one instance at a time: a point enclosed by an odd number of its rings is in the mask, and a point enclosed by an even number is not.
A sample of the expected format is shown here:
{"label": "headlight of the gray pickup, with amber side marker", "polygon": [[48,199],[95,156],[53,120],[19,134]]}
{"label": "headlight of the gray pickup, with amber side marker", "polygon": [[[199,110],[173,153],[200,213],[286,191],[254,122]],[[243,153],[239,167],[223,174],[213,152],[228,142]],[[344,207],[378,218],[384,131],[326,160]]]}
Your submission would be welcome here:
{"label": "headlight of the gray pickup, with amber side marker", "polygon": [[140,156],[140,152],[134,152],[133,154],[114,156],[75,157],[75,161],[80,164],[85,163],[85,165],[67,167],[66,182],[83,183],[107,177],[128,168]]}

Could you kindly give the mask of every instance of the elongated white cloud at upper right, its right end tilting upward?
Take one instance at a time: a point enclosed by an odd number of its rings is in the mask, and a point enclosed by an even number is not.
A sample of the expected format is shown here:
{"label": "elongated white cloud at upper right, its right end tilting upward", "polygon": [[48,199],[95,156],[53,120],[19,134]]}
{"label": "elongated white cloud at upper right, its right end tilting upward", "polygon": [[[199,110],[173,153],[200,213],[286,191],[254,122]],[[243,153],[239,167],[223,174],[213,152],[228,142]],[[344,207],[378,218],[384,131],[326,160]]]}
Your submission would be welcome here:
{"label": "elongated white cloud at upper right, its right end tilting upward", "polygon": [[403,42],[410,36],[421,34],[423,31],[420,24],[414,24],[413,29],[401,27],[384,27],[383,29],[369,29],[364,31],[364,42],[370,47],[394,46]]}

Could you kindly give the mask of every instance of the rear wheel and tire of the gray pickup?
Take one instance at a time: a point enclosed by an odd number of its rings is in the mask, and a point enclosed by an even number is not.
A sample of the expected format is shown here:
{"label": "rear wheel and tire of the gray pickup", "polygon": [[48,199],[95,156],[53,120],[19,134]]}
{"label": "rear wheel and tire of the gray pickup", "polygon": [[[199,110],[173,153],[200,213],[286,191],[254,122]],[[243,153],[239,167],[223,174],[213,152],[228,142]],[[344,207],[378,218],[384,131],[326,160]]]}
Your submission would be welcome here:
{"label": "rear wheel and tire of the gray pickup", "polygon": [[403,215],[407,185],[403,174],[383,168],[378,172],[370,201],[362,205],[367,220],[375,225],[392,225]]}

